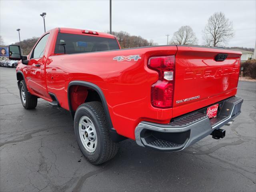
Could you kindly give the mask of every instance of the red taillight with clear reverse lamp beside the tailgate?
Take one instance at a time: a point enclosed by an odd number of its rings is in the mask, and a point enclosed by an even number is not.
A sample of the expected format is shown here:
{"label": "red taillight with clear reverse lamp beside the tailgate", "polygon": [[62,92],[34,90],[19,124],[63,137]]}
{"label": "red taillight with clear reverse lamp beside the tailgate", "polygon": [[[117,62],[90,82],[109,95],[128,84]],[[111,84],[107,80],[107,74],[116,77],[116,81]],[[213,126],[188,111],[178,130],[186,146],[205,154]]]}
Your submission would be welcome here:
{"label": "red taillight with clear reverse lamp beside the tailgate", "polygon": [[171,108],[173,102],[175,56],[151,57],[148,67],[159,74],[151,86],[151,104],[158,108]]}

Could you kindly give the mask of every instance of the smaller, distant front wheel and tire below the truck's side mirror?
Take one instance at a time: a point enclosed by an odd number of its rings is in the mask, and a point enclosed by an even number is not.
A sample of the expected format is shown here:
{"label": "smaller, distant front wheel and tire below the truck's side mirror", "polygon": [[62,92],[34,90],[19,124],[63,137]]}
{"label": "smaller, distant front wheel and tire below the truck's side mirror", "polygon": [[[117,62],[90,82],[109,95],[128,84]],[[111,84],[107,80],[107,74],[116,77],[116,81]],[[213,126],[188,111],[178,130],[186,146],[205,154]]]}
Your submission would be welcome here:
{"label": "smaller, distant front wheel and tire below the truck's side mirror", "polygon": [[34,109],[37,105],[37,97],[34,95],[31,95],[28,92],[26,83],[24,80],[20,81],[20,100],[22,103],[22,106],[25,109]]}

